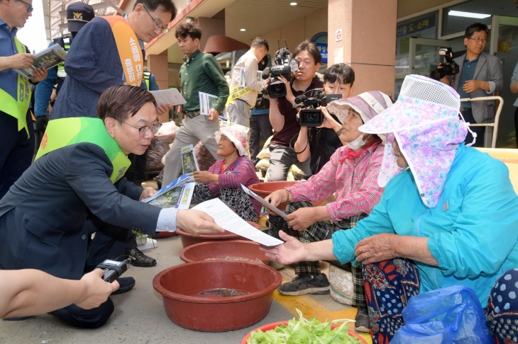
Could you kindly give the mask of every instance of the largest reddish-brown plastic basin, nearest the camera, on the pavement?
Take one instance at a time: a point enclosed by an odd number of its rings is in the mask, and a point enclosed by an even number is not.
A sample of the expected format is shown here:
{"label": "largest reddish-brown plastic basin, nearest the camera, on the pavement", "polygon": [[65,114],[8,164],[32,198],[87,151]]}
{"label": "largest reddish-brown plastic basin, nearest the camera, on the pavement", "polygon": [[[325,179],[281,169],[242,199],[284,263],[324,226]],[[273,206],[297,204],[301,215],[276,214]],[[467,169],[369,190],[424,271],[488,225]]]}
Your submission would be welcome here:
{"label": "largest reddish-brown plastic basin, nearest the camera, on the pavement", "polygon": [[[272,304],[282,277],[268,265],[232,260],[185,263],[153,278],[172,322],[194,331],[233,331],[258,323]],[[249,292],[237,297],[206,298],[199,292],[214,288]],[[193,296],[194,295],[194,296]]]}

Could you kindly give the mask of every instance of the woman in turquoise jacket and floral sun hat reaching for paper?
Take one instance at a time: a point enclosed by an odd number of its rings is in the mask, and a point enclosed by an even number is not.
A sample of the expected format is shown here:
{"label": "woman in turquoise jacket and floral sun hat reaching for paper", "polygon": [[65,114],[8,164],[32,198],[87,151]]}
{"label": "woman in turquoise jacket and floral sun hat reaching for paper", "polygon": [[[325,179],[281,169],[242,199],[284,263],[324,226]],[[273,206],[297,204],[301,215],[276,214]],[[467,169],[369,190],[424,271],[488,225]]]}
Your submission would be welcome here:
{"label": "woman in turquoise jacket and floral sun hat reaching for paper", "polygon": [[282,233],[286,243],[263,248],[282,264],[363,263],[373,343],[404,325],[409,297],[451,285],[477,294],[496,343],[518,342],[518,197],[505,164],[463,143],[459,107],[453,88],[407,76],[397,102],[360,127],[387,134],[370,216],[330,240]]}

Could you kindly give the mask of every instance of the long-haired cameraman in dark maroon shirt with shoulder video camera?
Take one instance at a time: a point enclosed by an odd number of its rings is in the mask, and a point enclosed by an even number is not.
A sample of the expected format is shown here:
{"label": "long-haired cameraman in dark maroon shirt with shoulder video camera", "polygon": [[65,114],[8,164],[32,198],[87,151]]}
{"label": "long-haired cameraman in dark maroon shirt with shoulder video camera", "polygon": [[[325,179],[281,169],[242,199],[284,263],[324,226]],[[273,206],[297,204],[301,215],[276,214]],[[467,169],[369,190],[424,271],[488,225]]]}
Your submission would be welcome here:
{"label": "long-haired cameraman in dark maroon shirt with shoulder video camera", "polygon": [[[294,108],[295,97],[324,86],[322,81],[314,79],[316,71],[320,68],[322,57],[316,45],[308,40],[300,43],[293,52],[293,58],[298,62],[298,70],[296,69],[297,62],[290,61],[287,55],[283,55],[284,58],[281,60],[285,64],[288,60],[294,80],[288,80],[287,74],[280,74],[276,76],[278,81],[275,79],[265,81],[265,89],[270,96],[270,122],[275,130],[270,144],[270,177],[268,178],[270,181],[286,180],[292,164],[297,165],[306,178],[312,176],[309,159],[297,160],[297,154],[290,148],[290,141],[300,130],[297,122],[297,109]],[[278,64],[277,54],[275,64]],[[270,69],[270,74],[272,74],[272,70],[275,71],[275,67],[277,66]]]}

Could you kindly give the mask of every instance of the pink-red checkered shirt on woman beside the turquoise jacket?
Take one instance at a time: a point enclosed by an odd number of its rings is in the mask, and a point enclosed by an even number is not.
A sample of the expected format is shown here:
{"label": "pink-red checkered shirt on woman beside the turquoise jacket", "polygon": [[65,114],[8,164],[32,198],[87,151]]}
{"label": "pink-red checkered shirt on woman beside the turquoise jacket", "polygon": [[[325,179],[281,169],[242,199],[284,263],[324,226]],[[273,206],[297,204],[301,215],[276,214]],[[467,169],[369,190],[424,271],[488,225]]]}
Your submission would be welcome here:
{"label": "pink-red checkered shirt on woman beside the turquoise jacket", "polygon": [[378,186],[378,174],[384,148],[381,142],[376,142],[361,154],[355,164],[353,159],[339,162],[340,157],[348,151],[348,147],[340,147],[319,173],[287,189],[292,193],[294,201],[316,202],[336,192],[336,201],[326,205],[333,221],[364,212],[370,214],[383,193],[383,188]]}

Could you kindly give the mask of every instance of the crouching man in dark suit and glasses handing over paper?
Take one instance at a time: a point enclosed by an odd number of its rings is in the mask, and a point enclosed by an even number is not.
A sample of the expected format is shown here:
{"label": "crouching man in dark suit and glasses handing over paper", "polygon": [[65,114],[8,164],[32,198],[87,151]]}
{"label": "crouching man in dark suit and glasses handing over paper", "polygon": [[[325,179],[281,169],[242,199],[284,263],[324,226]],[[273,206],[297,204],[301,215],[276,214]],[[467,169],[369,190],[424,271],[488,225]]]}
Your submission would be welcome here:
{"label": "crouching man in dark suit and glasses handing over paper", "polygon": [[[97,243],[103,248],[97,257],[110,259],[124,255],[130,228],[145,234],[177,227],[193,235],[224,231],[204,212],[139,202],[154,190],[122,178],[127,154],[143,154],[160,127],[155,98],[148,91],[111,87],[99,98],[97,110],[99,118],[50,121],[34,164],[0,200],[0,268],[34,268],[79,280],[89,256],[88,239],[100,229],[105,235]],[[135,280],[121,277],[119,283],[124,292]],[[108,299],[94,309],[72,304],[51,314],[65,323],[97,328],[113,311]]]}

